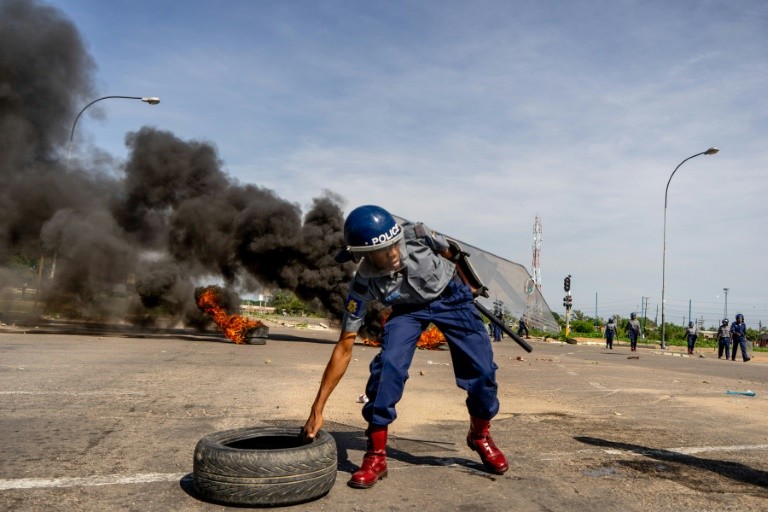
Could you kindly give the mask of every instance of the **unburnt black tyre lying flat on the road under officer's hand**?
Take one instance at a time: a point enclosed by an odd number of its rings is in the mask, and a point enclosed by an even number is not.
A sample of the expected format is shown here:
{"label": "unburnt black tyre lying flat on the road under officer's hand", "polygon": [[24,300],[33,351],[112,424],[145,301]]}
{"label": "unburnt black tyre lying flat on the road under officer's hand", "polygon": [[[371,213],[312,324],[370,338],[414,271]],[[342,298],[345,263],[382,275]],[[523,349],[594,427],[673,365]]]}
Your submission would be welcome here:
{"label": "unburnt black tyre lying flat on the road under officer's hand", "polygon": [[324,430],[309,444],[300,428],[225,430],[197,443],[194,487],[201,498],[224,505],[292,505],[327,494],[336,462],[336,443]]}

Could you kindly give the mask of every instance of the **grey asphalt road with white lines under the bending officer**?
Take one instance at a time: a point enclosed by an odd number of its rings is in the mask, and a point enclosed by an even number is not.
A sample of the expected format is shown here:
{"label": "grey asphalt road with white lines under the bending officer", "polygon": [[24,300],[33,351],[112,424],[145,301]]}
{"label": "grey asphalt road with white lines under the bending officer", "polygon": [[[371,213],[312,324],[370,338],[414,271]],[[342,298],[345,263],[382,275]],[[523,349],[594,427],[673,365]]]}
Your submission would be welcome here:
{"label": "grey asphalt road with white lines under the bending officer", "polygon": [[[303,425],[337,333],[215,334],[5,327],[0,509],[214,511],[191,488],[200,437]],[[360,404],[376,350],[357,346],[326,410],[339,472],[308,511],[648,511],[768,508],[768,359],[531,340],[494,344],[510,470],[485,472],[447,351],[417,351],[390,430],[389,476],[346,485],[365,450]],[[635,357],[632,358],[630,357]],[[520,357],[522,360],[519,360]],[[727,394],[755,391],[756,396]]]}

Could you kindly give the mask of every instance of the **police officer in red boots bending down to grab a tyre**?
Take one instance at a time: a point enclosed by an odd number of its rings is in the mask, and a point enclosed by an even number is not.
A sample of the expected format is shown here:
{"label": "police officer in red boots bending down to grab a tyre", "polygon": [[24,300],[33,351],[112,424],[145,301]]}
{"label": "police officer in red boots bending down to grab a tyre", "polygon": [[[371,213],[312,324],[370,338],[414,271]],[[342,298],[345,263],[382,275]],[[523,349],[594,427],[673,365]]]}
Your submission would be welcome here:
{"label": "police officer in red boots bending down to grab a tyre", "polygon": [[354,259],[358,267],[349,285],[339,340],[304,426],[305,438],[314,438],[322,427],[325,403],[349,366],[366,304],[375,300],[391,306],[392,313],[365,388],[368,450],[349,485],[369,488],[387,475],[387,428],[397,418],[395,407],[416,343],[430,322],[445,336],[456,384],[467,392],[468,446],[478,452],[489,471],[507,471],[507,459],[490,435],[490,420],[499,410],[491,342],[470,288],[456,277],[454,264],[446,259],[450,250],[445,238],[423,224],[401,226],[383,208],[366,205],[347,216],[344,240],[347,248],[336,259]]}

